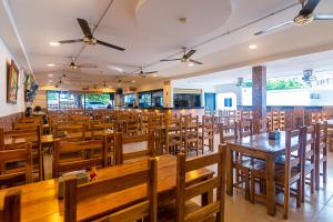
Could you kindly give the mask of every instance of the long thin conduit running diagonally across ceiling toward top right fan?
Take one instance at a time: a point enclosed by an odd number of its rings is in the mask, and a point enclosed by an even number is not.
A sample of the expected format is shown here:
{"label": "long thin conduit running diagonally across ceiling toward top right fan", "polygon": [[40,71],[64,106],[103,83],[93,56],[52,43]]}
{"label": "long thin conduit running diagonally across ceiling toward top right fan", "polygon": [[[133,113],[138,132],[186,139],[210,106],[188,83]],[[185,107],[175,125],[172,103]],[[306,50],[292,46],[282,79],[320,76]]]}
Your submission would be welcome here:
{"label": "long thin conduit running diagonally across ceiling toward top right fan", "polygon": [[[283,8],[283,9],[280,9],[280,10],[278,10],[278,11],[274,11],[274,12],[272,12],[272,13],[269,13],[269,14],[266,14],[266,16],[264,16],[264,17],[259,18],[259,19],[252,20],[252,21],[250,21],[250,22],[248,22],[248,23],[245,23],[245,24],[242,24],[242,26],[240,26],[240,27],[236,27],[236,28],[234,28],[234,29],[231,29],[231,30],[229,30],[229,31],[226,31],[226,32],[224,32],[224,33],[222,33],[222,34],[219,34],[219,36],[213,37],[213,38],[211,38],[211,39],[208,39],[208,40],[205,40],[205,41],[203,41],[203,42],[200,42],[200,43],[198,43],[198,44],[195,44],[195,46],[192,46],[191,48],[188,48],[188,50],[196,49],[196,48],[199,48],[199,47],[202,47],[202,46],[204,46],[204,44],[208,44],[208,43],[210,43],[210,42],[213,42],[213,41],[215,41],[215,40],[218,40],[218,39],[220,39],[220,38],[222,38],[222,37],[225,37],[225,36],[235,33],[235,32],[238,32],[238,31],[241,31],[241,30],[243,30],[243,29],[245,29],[245,28],[248,28],[248,27],[250,27],[250,26],[252,26],[252,24],[255,24],[255,23],[258,23],[258,22],[260,22],[260,21],[262,21],[262,20],[264,20],[264,19],[268,19],[268,18],[270,18],[270,17],[273,17],[273,16],[275,16],[275,14],[278,14],[278,13],[281,13],[281,12],[283,12],[283,11],[285,11],[285,10],[289,10],[289,9],[291,9],[291,8],[294,8],[294,7],[296,7],[296,6],[300,6],[300,2],[290,4],[290,6]],[[163,58],[162,60],[171,59],[171,58],[173,58],[173,57],[175,57],[175,56],[179,56],[179,54],[181,54],[181,53],[183,53],[183,51],[178,51],[176,53],[171,54],[171,56],[169,56],[169,57],[167,57],[167,58]],[[153,67],[153,65],[159,64],[159,63],[160,63],[160,60],[159,60],[159,61],[155,61],[155,62],[152,62],[152,63],[149,63],[149,64],[147,64],[147,65],[143,65],[143,68],[147,69],[147,68],[149,68],[149,67]],[[131,72],[131,74],[137,73],[138,71],[140,71],[140,70],[139,70],[139,69],[135,69],[134,71]]]}

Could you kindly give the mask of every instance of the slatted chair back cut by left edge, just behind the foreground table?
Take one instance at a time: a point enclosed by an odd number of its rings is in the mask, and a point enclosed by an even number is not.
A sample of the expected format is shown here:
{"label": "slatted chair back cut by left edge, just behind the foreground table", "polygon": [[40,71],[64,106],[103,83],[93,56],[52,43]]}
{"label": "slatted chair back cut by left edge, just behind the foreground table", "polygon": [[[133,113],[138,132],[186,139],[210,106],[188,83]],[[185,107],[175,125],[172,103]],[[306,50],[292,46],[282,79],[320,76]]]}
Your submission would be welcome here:
{"label": "slatted chair back cut by left edge, just behind the foreground table", "polygon": [[31,143],[18,143],[6,145],[4,150],[0,151],[0,186],[33,182],[31,150]]}

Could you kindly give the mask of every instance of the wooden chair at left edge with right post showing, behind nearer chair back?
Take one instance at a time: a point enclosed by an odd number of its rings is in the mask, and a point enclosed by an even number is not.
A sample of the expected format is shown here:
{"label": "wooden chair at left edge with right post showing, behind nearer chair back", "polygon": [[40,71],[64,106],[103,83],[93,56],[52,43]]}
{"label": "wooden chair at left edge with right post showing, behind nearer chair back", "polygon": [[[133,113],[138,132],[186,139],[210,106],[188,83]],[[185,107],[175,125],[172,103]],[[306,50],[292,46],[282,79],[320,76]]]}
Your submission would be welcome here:
{"label": "wooden chair at left edge with right post showing, behind nearer chair back", "polygon": [[[22,129],[22,130],[3,130],[0,128],[0,150],[7,149],[8,144],[16,143],[32,143],[32,161],[33,161],[33,172],[39,174],[39,180],[43,180],[44,169],[43,169],[43,151],[41,143],[41,128]],[[7,147],[7,148],[6,148]]]}

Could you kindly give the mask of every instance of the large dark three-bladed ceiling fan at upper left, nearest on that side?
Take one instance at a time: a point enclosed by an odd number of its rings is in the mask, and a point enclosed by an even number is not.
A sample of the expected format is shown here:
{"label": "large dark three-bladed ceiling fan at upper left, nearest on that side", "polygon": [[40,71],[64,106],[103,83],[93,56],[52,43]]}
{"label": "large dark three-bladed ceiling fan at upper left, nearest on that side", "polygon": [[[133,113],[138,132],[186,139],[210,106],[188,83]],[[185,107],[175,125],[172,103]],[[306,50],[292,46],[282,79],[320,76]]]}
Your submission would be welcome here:
{"label": "large dark three-bladed ceiling fan at upper left, nearest on that side", "polygon": [[83,39],[62,40],[62,41],[58,41],[59,43],[63,44],[63,43],[84,42],[87,44],[93,44],[93,46],[94,44],[102,44],[104,47],[117,49],[119,51],[124,51],[125,50],[124,48],[121,48],[121,47],[118,47],[118,46],[114,46],[114,44],[110,44],[108,42],[104,42],[104,41],[95,39],[92,36],[92,32],[90,30],[90,27],[89,27],[87,20],[78,18],[78,22],[79,22],[79,24],[80,24],[80,27],[82,29],[83,34],[84,34]]}

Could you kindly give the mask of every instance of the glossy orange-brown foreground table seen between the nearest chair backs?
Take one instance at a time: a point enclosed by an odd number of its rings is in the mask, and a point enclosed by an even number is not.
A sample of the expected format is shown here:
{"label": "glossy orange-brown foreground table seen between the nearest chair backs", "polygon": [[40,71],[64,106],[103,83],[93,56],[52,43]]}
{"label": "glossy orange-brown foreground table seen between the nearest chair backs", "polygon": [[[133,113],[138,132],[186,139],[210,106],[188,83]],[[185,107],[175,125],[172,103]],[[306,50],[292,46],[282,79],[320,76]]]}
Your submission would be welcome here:
{"label": "glossy orange-brown foreground table seen between the nearest chair backs", "polygon": [[[121,165],[109,167],[98,170],[97,180],[119,176],[147,168],[148,161],[140,160]],[[173,155],[158,157],[158,200],[167,203],[175,199],[176,158]],[[198,183],[213,176],[213,171],[200,169],[186,174],[186,184]],[[20,189],[21,195],[21,221],[63,221],[63,200],[58,199],[58,180],[47,180],[26,184],[11,189]],[[9,189],[0,190],[0,200]],[[202,203],[212,200],[212,192],[201,196]],[[94,214],[112,213],[147,199],[145,185],[135,186],[109,195],[88,199],[78,204],[78,220],[90,220]]]}

